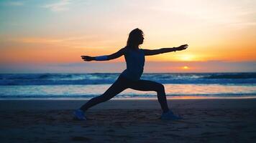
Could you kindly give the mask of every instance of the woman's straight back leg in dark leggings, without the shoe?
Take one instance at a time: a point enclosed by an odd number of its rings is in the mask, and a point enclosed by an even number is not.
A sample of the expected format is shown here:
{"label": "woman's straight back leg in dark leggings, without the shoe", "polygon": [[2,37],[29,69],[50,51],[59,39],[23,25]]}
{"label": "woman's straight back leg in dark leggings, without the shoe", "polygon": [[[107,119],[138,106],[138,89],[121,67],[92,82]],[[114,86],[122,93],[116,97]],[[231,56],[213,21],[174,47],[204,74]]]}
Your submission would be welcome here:
{"label": "woman's straight back leg in dark leggings, without the shoe", "polygon": [[109,87],[109,89],[106,90],[104,94],[101,94],[99,97],[90,99],[86,104],[83,104],[80,109],[85,112],[87,109],[93,107],[96,104],[108,101],[109,99],[116,96],[116,94],[124,91],[124,89],[127,89],[125,81],[119,78],[116,80],[116,82],[114,82],[114,84],[111,85],[111,87]]}

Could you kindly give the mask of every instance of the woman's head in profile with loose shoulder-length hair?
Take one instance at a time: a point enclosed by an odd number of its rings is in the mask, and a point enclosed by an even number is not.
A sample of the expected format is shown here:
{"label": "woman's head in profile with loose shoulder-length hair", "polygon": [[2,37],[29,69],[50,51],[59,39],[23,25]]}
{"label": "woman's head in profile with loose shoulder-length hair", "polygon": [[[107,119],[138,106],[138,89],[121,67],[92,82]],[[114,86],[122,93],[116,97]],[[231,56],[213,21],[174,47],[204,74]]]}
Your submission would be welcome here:
{"label": "woman's head in profile with loose shoulder-length hair", "polygon": [[129,33],[129,37],[127,39],[127,46],[134,47],[140,45],[140,41],[143,36],[143,31],[141,29],[133,29]]}

